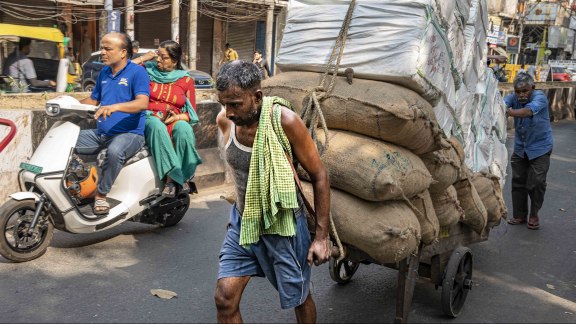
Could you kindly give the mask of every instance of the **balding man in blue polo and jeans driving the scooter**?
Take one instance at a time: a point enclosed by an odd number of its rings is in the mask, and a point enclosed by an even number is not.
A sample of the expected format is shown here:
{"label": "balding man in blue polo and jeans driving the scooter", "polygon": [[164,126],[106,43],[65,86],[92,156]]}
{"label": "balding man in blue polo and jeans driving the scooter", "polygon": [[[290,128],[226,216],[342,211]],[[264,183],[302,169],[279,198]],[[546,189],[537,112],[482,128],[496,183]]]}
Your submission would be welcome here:
{"label": "balding man in blue polo and jeans driving the scooter", "polygon": [[106,215],[106,195],[124,162],[144,146],[144,110],[148,107],[150,79],[146,70],[132,63],[132,41],[125,33],[106,34],[101,41],[102,63],[92,95],[83,104],[100,105],[94,118],[97,129],[82,130],[76,152],[93,155],[108,148],[98,177],[94,214]]}

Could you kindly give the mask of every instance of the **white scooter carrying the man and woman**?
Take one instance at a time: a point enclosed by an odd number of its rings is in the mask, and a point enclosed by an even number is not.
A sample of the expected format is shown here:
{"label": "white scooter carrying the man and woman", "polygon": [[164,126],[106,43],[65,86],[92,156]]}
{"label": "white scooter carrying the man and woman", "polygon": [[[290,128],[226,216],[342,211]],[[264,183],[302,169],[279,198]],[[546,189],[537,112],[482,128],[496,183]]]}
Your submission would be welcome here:
{"label": "white scooter carrying the man and woman", "polygon": [[[46,114],[58,118],[28,162],[20,164],[20,192],[0,207],[0,255],[15,262],[43,255],[54,228],[69,233],[92,233],[127,220],[168,227],[188,211],[189,192],[176,197],[161,195],[163,183],[146,147],[124,164],[107,195],[110,211],[95,215],[92,209],[98,159],[74,153],[80,134],[77,123],[93,118],[97,106],[81,104],[70,96],[46,103]],[[101,152],[101,158],[105,152]]]}

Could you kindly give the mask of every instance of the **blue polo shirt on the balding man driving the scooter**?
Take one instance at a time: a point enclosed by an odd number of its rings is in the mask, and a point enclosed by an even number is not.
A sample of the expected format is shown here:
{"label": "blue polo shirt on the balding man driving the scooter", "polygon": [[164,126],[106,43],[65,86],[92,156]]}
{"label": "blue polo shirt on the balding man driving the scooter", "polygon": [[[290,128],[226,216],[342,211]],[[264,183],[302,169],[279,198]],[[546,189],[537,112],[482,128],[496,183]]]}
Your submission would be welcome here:
{"label": "blue polo shirt on the balding man driving the scooter", "polygon": [[[144,68],[128,61],[116,75],[112,75],[109,66],[104,67],[98,75],[91,97],[99,101],[101,106],[108,106],[132,101],[137,95],[150,96],[150,78]],[[134,114],[113,112],[106,120],[103,117],[98,119],[98,133],[107,136],[121,133],[144,135],[145,116],[145,111]]]}

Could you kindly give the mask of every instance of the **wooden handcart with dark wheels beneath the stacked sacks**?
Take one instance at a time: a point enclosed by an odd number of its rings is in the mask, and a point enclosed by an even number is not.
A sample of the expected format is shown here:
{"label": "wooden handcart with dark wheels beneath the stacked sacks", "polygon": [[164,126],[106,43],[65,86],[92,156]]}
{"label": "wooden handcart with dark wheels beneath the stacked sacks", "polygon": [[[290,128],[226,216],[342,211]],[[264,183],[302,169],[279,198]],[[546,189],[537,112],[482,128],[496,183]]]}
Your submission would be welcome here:
{"label": "wooden handcart with dark wheels beneath the stacked sacks", "polygon": [[468,292],[472,289],[472,251],[466,245],[488,239],[489,227],[482,234],[457,223],[441,229],[436,243],[418,248],[418,251],[398,263],[381,264],[366,253],[346,245],[344,258],[337,261],[334,251],[330,258],[329,271],[332,280],[339,284],[350,282],[361,263],[380,264],[398,270],[396,294],[396,323],[406,323],[412,304],[414,287],[418,279],[442,287],[442,311],[457,317],[462,311]]}

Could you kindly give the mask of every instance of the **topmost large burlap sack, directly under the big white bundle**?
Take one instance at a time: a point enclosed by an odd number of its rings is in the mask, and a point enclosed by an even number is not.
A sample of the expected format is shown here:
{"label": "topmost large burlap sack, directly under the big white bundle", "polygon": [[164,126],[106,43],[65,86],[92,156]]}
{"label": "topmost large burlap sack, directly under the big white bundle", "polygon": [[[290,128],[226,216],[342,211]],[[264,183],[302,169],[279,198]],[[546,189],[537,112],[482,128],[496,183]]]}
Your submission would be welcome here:
{"label": "topmost large burlap sack, directly under the big white bundle", "polygon": [[[263,82],[267,96],[289,100],[301,113],[322,74],[284,72]],[[416,92],[381,81],[338,77],[333,91],[321,100],[328,128],[349,130],[424,154],[448,147],[434,110]]]}

